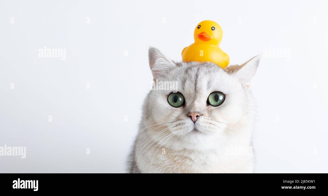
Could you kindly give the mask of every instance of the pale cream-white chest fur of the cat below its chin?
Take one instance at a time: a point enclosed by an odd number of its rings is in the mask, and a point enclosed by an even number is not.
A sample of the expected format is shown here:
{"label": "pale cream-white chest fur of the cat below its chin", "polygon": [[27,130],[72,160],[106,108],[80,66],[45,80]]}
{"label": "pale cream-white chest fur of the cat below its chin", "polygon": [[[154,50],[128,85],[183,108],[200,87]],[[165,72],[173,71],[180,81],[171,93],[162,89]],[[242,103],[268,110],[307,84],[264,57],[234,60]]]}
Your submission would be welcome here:
{"label": "pale cream-white chest fur of the cat below its chin", "polygon": [[[237,141],[236,141],[237,142]],[[246,141],[238,141],[244,143]],[[211,150],[172,150],[158,147],[156,144],[147,147],[147,153],[136,157],[138,173],[252,173],[254,158],[234,155],[227,151],[233,141],[218,144]],[[229,147],[228,147],[229,148]],[[229,150],[229,149],[228,149]],[[228,154],[227,154],[228,152]]]}

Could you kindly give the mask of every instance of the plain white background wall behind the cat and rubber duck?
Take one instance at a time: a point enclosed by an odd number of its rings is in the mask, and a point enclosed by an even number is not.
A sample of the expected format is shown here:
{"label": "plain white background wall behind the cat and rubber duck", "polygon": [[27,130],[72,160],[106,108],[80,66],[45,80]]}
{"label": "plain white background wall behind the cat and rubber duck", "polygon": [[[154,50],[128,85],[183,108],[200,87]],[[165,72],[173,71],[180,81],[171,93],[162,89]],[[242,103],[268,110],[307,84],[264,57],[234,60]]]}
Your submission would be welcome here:
{"label": "plain white background wall behind the cat and rubber duck", "polygon": [[[0,146],[26,146],[27,153],[0,156],[0,172],[125,172],[152,82],[148,47],[181,61],[202,20],[222,27],[220,47],[231,64],[269,49],[290,51],[290,58],[262,58],[253,80],[256,172],[328,172],[327,7],[2,0]],[[44,46],[66,48],[66,60],[39,58]]]}

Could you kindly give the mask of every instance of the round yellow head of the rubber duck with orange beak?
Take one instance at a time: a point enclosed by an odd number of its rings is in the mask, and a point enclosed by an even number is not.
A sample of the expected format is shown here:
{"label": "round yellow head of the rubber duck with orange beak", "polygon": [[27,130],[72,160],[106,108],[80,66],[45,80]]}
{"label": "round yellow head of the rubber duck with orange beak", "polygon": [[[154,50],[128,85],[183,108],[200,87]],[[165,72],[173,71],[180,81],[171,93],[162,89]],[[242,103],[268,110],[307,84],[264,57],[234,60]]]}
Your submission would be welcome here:
{"label": "round yellow head of the rubber duck with orange beak", "polygon": [[222,40],[222,28],[219,24],[211,20],[200,22],[194,31],[195,43],[206,43],[219,45]]}

